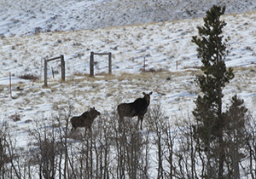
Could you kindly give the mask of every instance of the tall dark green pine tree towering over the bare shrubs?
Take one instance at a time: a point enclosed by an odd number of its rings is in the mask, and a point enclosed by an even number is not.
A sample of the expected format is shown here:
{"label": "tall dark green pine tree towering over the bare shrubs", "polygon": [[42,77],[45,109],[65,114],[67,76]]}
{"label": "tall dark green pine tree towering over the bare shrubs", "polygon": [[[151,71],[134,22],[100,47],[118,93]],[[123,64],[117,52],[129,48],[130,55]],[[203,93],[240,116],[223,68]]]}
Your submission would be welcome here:
{"label": "tall dark green pine tree towering over the bare shrubs", "polygon": [[227,70],[225,58],[228,55],[227,39],[223,28],[226,26],[220,16],[225,7],[213,5],[204,18],[204,26],[198,26],[198,37],[192,42],[197,47],[197,57],[201,59],[202,75],[195,78],[203,95],[198,95],[193,114],[197,125],[195,137],[200,139],[198,150],[207,155],[206,173],[208,178],[224,178],[224,113],[222,112],[223,89],[234,78],[231,68]]}

